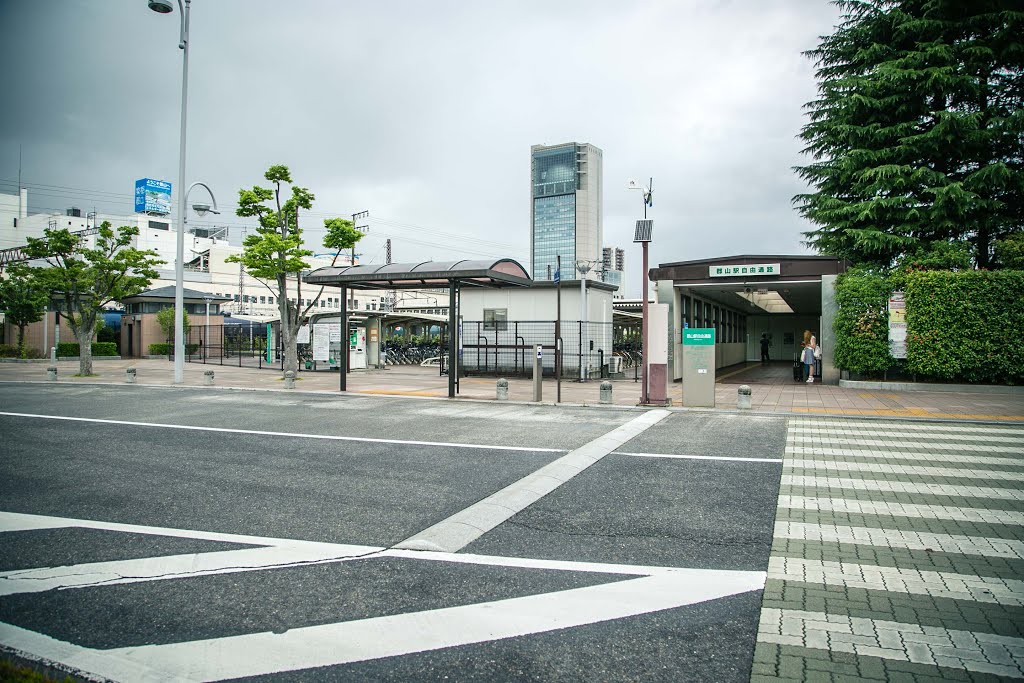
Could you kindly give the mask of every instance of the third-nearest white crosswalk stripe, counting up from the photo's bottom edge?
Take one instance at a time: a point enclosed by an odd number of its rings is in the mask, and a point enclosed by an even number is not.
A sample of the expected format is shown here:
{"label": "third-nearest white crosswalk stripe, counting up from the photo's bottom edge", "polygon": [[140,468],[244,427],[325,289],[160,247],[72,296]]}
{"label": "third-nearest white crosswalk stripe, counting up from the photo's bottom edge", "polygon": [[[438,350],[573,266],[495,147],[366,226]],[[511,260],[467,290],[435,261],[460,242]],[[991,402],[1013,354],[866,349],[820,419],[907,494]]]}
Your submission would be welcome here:
{"label": "third-nearest white crosswalk stripe, counting up from the photo's bottom edge", "polygon": [[775,538],[787,541],[847,543],[856,546],[932,550],[962,555],[1024,559],[1024,542],[978,536],[932,533],[842,524],[811,524],[782,520],[775,522]]}

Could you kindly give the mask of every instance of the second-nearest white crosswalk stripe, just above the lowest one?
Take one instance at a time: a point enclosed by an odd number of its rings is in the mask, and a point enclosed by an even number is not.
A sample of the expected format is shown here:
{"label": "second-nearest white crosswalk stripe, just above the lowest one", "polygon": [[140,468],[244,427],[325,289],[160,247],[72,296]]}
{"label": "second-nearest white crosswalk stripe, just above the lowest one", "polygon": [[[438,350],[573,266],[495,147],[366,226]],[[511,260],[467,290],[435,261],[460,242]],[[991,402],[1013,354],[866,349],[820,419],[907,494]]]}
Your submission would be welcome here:
{"label": "second-nearest white crosswalk stripe, just above the lowest one", "polygon": [[768,579],[928,595],[950,600],[1024,605],[1024,581],[983,578],[951,571],[920,571],[874,564],[772,557],[768,562]]}

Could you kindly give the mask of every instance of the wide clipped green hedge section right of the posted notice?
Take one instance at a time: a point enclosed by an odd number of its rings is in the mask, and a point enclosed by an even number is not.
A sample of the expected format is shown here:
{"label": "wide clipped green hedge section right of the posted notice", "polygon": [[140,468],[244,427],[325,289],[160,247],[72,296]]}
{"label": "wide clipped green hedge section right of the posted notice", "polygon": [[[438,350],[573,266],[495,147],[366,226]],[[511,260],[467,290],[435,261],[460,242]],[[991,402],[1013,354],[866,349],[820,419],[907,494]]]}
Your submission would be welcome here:
{"label": "wide clipped green hedge section right of the posted notice", "polygon": [[939,380],[1024,381],[1024,271],[906,275],[907,370]]}

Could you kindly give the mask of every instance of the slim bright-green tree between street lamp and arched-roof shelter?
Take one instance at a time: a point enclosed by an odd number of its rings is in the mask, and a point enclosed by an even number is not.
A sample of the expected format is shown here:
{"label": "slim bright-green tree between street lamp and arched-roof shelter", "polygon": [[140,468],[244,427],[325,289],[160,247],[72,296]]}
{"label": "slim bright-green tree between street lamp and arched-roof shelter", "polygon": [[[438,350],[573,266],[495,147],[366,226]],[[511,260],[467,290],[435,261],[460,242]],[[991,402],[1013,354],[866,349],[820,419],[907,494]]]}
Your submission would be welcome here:
{"label": "slim bright-green tree between street lamp and arched-roof shelter", "polygon": [[[252,189],[240,189],[239,208],[236,210],[239,216],[256,218],[256,233],[247,236],[243,241],[242,254],[225,260],[241,263],[250,275],[262,281],[276,296],[285,353],[284,369],[285,372],[297,372],[296,337],[299,327],[324,292],[324,288],[319,288],[319,293],[303,308],[301,272],[309,268],[304,259],[312,256],[313,252],[303,245],[299,211],[311,209],[315,197],[307,188],[293,184],[287,166],[271,166],[263,177],[272,183],[272,187],[255,185]],[[327,228],[324,244],[328,249],[340,250],[343,246],[355,244],[349,233],[349,228],[354,229],[350,220],[330,219],[324,224]]]}

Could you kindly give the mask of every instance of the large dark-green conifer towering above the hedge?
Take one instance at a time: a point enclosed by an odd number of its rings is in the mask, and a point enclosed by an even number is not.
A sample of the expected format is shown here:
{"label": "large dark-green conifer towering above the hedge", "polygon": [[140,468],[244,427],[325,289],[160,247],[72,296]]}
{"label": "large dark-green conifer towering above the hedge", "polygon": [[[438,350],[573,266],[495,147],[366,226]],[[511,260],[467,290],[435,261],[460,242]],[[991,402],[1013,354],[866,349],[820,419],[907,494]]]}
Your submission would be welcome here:
{"label": "large dark-green conifer towering above the hedge", "polygon": [[1024,4],[837,0],[794,198],[821,253],[889,266],[968,241],[977,266],[1024,229]]}

